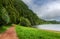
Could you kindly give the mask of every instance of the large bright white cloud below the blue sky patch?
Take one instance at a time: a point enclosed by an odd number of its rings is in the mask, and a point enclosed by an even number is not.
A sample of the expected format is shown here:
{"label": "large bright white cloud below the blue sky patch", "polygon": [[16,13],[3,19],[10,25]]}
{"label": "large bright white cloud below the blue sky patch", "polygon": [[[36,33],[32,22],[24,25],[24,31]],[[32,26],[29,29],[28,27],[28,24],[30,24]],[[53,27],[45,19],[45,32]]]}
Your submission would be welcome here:
{"label": "large bright white cloud below the blue sky patch", "polygon": [[[38,7],[39,8],[39,7]],[[39,17],[43,19],[56,19],[60,17],[60,3],[59,2],[52,2],[46,5],[41,6],[39,9],[36,10]]]}

